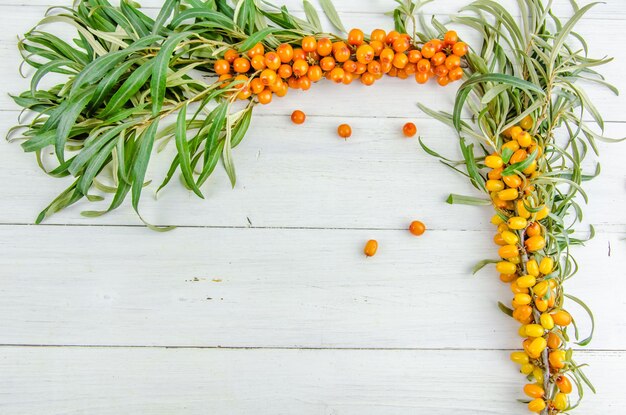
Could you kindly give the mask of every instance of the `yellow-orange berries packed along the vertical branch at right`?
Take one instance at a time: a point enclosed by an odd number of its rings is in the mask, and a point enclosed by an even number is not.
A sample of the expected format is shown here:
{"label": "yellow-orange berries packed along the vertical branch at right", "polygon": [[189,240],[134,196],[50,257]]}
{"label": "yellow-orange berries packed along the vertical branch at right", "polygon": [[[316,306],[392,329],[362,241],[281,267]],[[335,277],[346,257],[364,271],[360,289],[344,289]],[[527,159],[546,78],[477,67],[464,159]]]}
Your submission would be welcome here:
{"label": "yellow-orange berries packed along the vertical branch at right", "polygon": [[[511,286],[513,318],[521,324],[519,334],[524,337],[524,351],[513,352],[511,360],[535,381],[524,387],[524,393],[532,398],[528,408],[537,413],[548,408],[550,414],[556,414],[568,408],[567,395],[572,392],[572,383],[564,374],[568,364],[561,340],[561,330],[572,323],[572,317],[555,308],[560,291],[554,274],[555,260],[540,253],[546,246],[541,221],[550,209],[534,205],[535,189],[530,182],[538,176],[537,159],[543,151],[529,132],[533,126],[533,119],[526,117],[503,133],[501,151],[485,158],[485,165],[491,169],[486,187],[500,211],[492,218],[498,229],[494,242],[500,246],[498,254],[502,258],[496,270],[500,280]],[[526,168],[504,175],[507,166],[526,160],[530,154],[536,154],[536,158]],[[544,390],[544,376],[550,377],[549,384],[556,384],[557,392],[552,397]]]}

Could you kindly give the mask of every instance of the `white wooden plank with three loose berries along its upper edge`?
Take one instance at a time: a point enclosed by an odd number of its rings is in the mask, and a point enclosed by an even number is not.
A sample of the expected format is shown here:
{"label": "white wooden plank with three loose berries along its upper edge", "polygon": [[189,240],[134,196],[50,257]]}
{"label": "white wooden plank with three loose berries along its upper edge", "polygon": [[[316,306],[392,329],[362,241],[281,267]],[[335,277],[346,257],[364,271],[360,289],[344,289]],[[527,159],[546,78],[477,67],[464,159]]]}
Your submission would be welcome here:
{"label": "white wooden plank with three loose berries along its upper edge", "polygon": [[[300,106],[309,113],[316,104]],[[145,190],[142,214],[157,224],[181,226],[254,226],[314,228],[405,228],[421,218],[433,229],[489,229],[491,210],[451,206],[450,193],[480,194],[465,177],[426,154],[416,139],[401,136],[402,119],[310,116],[303,126],[288,116],[269,116],[259,108],[244,142],[234,151],[238,184],[232,189],[223,169],[203,187],[201,200],[178,179],[161,193],[161,183],[173,157],[173,144],[155,155]],[[10,125],[13,113],[0,112],[0,125]],[[350,122],[353,137],[344,142],[335,132]],[[414,120],[425,143],[452,159],[462,158],[456,134],[434,120]],[[622,124],[610,124],[609,133],[621,133]],[[17,143],[0,143],[0,223],[32,223],[38,212],[71,179],[55,179],[41,172],[34,155]],[[625,145],[601,145],[602,176],[585,185],[590,204],[585,216],[598,229],[626,229],[622,160]],[[591,157],[590,161],[594,158]],[[588,171],[594,171],[590,162]],[[106,203],[82,202],[46,223],[137,225],[129,205],[101,218],[85,218],[83,210],[100,210]]]}

